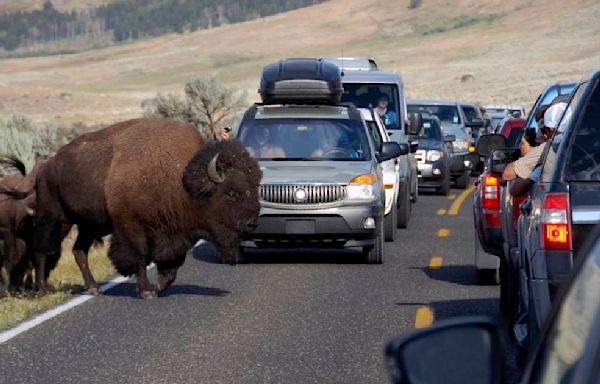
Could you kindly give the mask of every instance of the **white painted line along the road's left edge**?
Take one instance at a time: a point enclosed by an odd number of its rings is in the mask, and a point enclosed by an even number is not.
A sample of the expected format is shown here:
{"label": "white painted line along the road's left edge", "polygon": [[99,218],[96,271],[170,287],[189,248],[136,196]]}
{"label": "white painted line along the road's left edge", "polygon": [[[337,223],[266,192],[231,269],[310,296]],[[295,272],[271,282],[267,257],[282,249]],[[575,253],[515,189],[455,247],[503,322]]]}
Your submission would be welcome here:
{"label": "white painted line along the road's left edge", "polygon": [[[150,264],[148,266],[148,269],[150,269],[152,267],[154,267],[154,263]],[[104,293],[104,292],[108,291],[109,289],[112,289],[112,288],[116,287],[117,285],[122,284],[128,280],[129,280],[129,277],[125,277],[125,276],[115,277],[108,283],[103,284],[100,287],[100,292]],[[85,294],[79,295],[77,297],[74,297],[74,298],[62,303],[62,304],[57,305],[56,307],[54,307],[52,309],[47,310],[46,312],[43,312],[43,313],[35,316],[34,318],[32,318],[30,320],[25,320],[24,322],[20,323],[15,328],[9,329],[4,332],[0,332],[0,345],[6,343],[7,341],[9,341],[12,338],[19,336],[21,333],[27,332],[30,329],[37,327],[38,325],[60,315],[61,313],[64,313],[71,308],[75,308],[78,305],[81,305],[81,304],[85,303],[86,301],[89,301],[95,297],[96,296],[85,295]]]}

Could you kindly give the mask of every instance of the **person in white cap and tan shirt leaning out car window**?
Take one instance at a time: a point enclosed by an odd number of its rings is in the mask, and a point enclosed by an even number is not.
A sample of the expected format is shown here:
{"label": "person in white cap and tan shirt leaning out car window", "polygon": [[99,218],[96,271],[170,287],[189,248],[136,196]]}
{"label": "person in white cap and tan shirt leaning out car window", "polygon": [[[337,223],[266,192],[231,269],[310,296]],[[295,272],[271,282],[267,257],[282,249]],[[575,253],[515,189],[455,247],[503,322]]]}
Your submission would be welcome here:
{"label": "person in white cap and tan shirt leaning out car window", "polygon": [[526,153],[523,157],[508,164],[504,169],[504,172],[502,173],[502,178],[504,180],[514,180],[517,177],[521,179],[529,178],[531,172],[540,164],[546,143],[552,137],[566,107],[566,103],[558,103],[550,106],[544,112],[543,124],[540,127],[544,143],[537,147],[525,148]]}

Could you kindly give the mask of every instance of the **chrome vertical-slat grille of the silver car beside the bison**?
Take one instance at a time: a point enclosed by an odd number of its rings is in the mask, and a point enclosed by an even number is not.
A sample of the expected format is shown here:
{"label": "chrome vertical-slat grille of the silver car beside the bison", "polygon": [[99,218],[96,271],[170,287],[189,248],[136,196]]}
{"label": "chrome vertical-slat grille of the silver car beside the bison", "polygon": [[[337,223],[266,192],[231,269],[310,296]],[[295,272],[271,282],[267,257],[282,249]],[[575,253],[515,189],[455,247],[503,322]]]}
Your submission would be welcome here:
{"label": "chrome vertical-slat grille of the silver car beside the bison", "polygon": [[277,204],[325,204],[341,201],[346,197],[346,186],[337,184],[263,184],[260,200]]}

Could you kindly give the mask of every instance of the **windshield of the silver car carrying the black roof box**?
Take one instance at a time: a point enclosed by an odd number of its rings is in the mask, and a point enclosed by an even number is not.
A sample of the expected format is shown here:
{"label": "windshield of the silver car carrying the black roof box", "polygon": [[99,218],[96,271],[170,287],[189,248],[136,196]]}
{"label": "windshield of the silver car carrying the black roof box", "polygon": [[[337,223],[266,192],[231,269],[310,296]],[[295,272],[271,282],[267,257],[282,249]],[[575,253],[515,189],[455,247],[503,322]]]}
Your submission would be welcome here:
{"label": "windshield of the silver car carrying the black roof box", "polygon": [[240,126],[238,139],[257,160],[365,161],[371,158],[365,127],[356,120],[249,120]]}

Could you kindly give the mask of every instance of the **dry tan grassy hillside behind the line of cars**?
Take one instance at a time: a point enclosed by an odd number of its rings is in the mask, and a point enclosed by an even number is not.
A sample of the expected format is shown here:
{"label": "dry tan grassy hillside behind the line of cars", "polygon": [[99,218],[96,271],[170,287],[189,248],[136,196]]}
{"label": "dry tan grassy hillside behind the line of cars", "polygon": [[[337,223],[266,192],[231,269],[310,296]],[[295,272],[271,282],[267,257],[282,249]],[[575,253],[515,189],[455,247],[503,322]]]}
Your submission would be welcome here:
{"label": "dry tan grassy hillside behind the line of cars", "polygon": [[[74,55],[2,60],[0,114],[109,123],[157,92],[218,73],[255,98],[283,57],[368,55],[402,73],[410,97],[530,106],[549,82],[600,67],[600,3],[578,0],[332,0],[235,25]],[[465,76],[466,75],[466,76]],[[467,81],[461,81],[467,79]]]}

